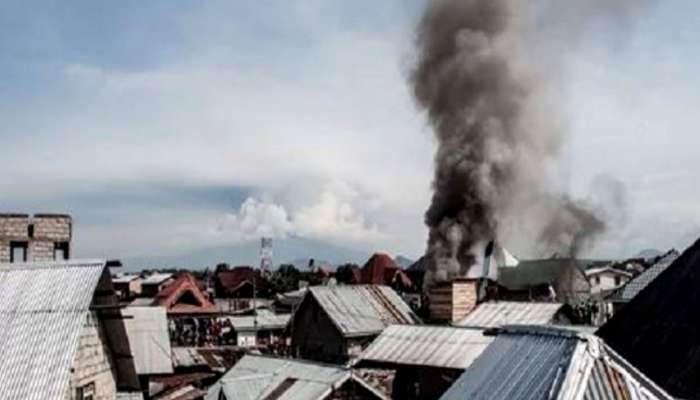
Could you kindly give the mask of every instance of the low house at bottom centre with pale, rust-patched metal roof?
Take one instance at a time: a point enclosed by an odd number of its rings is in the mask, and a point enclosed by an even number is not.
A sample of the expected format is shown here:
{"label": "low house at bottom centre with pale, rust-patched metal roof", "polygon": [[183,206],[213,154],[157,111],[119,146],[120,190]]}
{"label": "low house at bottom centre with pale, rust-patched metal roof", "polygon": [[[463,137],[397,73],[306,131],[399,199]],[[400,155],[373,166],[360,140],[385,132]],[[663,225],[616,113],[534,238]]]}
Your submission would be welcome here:
{"label": "low house at bottom centre with pale, rust-patched metal roof", "polygon": [[347,367],[244,356],[216,384],[207,400],[383,400],[380,392]]}

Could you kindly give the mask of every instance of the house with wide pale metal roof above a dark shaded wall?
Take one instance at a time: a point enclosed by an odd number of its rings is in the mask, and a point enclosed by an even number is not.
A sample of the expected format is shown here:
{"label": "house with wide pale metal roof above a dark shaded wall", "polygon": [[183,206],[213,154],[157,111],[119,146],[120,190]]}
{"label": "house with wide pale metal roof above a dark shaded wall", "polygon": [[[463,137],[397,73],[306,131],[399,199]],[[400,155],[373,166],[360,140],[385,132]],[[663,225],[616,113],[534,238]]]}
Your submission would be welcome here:
{"label": "house with wide pale metal roof above a dark shaded wall", "polygon": [[493,341],[483,330],[391,325],[358,357],[354,368],[395,371],[394,399],[438,399]]}

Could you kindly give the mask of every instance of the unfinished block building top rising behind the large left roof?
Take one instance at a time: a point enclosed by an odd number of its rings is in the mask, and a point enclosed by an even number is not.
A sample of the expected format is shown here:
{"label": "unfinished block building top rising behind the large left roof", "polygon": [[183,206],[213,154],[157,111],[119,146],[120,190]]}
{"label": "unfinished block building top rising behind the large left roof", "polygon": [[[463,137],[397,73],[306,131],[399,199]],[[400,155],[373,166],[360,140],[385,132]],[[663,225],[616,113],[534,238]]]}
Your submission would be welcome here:
{"label": "unfinished block building top rising behind the large left roof", "polygon": [[68,260],[72,228],[65,214],[0,214],[0,263]]}

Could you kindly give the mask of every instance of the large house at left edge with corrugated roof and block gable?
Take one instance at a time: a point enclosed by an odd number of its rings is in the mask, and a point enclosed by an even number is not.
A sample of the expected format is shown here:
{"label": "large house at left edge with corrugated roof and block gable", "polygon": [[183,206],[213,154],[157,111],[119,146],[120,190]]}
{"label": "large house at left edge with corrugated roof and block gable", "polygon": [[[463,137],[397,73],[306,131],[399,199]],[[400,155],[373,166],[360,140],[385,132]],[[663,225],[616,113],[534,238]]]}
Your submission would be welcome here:
{"label": "large house at left edge with corrugated roof and block gable", "polygon": [[0,339],[3,398],[140,398],[105,261],[0,266]]}

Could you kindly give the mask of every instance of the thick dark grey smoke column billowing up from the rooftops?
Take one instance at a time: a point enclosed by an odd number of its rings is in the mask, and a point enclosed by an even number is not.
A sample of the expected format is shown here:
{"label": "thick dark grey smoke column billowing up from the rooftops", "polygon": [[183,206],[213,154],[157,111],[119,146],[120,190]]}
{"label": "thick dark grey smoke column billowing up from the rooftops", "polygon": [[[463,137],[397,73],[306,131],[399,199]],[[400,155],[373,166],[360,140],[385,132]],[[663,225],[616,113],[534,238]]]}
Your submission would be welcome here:
{"label": "thick dark grey smoke column billowing up from the rooftops", "polygon": [[505,218],[534,221],[533,242],[560,256],[575,257],[605,230],[591,208],[552,191],[565,134],[555,95],[562,41],[575,45],[599,17],[627,20],[632,4],[641,2],[429,3],[410,78],[437,139],[428,281],[464,276]]}

